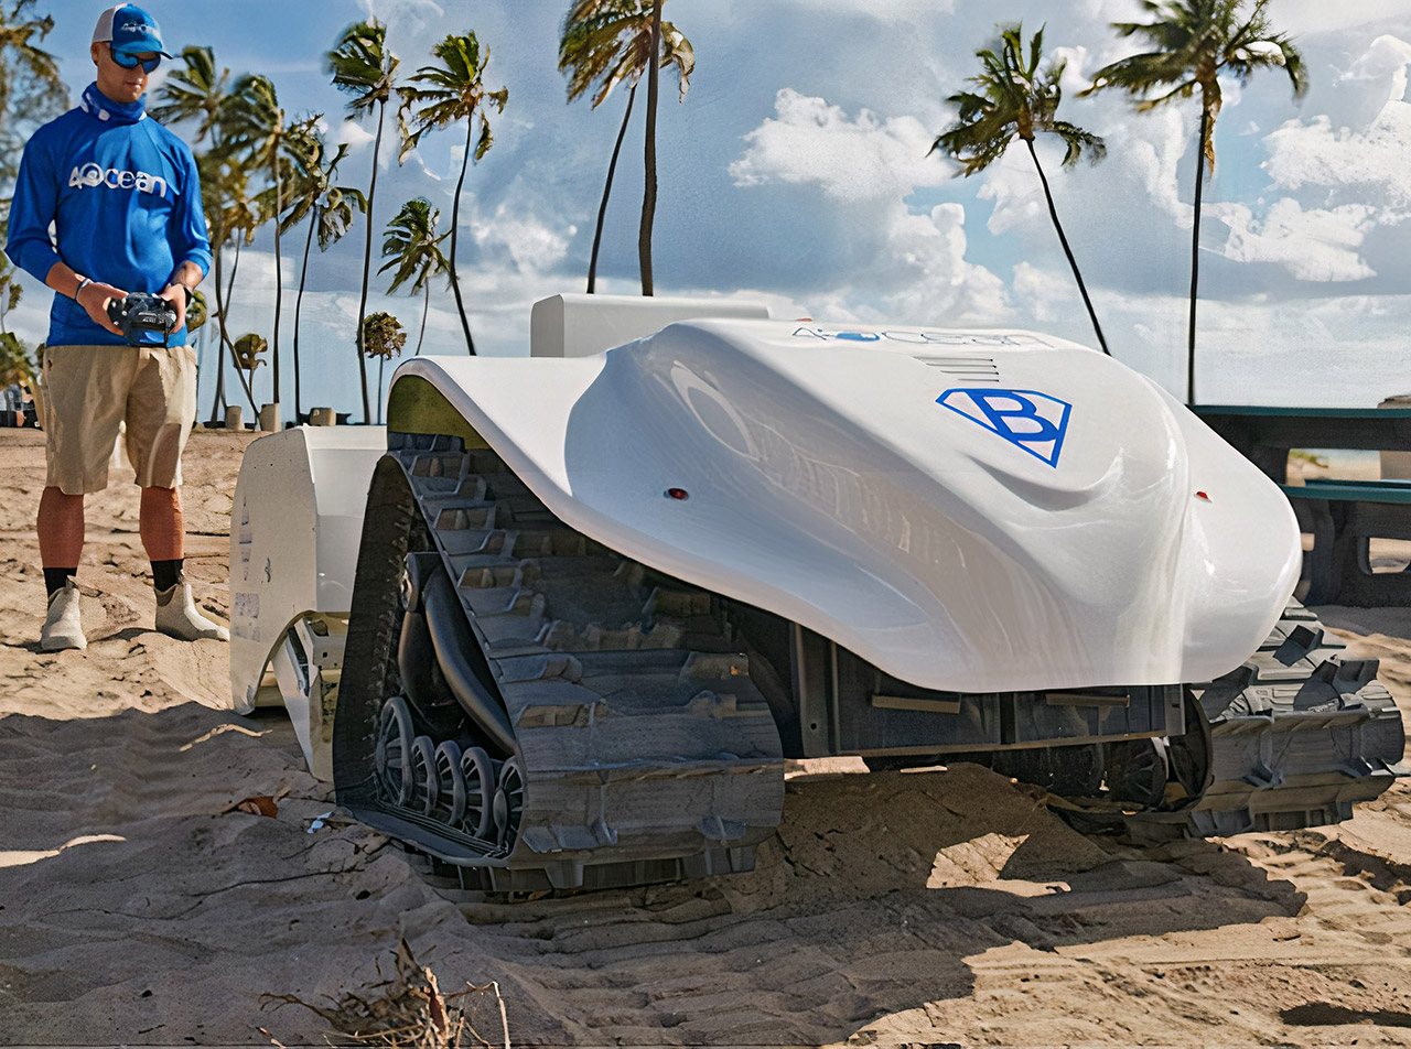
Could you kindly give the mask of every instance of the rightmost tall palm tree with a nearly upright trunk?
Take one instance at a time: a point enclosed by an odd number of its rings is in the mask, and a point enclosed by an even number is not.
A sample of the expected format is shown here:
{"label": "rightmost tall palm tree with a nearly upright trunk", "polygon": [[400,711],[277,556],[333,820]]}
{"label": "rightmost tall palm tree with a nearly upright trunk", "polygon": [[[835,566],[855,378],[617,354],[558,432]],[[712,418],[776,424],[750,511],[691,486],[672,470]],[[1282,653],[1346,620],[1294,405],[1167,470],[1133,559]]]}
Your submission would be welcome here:
{"label": "rightmost tall palm tree with a nearly upright trunk", "polygon": [[[1191,319],[1187,329],[1185,399],[1195,403],[1195,302],[1201,276],[1201,192],[1205,168],[1215,173],[1215,120],[1219,117],[1221,73],[1249,83],[1256,69],[1281,66],[1300,99],[1308,90],[1304,56],[1292,41],[1274,32],[1266,8],[1268,0],[1253,0],[1246,17],[1245,0],[1144,0],[1153,21],[1113,23],[1122,37],[1140,35],[1153,49],[1130,55],[1103,66],[1094,75],[1092,87],[1101,92],[1118,87],[1143,96],[1139,111],[1177,99],[1201,96],[1201,130],[1195,158],[1195,221],[1191,231]],[[1156,93],[1160,92],[1160,93]]]}

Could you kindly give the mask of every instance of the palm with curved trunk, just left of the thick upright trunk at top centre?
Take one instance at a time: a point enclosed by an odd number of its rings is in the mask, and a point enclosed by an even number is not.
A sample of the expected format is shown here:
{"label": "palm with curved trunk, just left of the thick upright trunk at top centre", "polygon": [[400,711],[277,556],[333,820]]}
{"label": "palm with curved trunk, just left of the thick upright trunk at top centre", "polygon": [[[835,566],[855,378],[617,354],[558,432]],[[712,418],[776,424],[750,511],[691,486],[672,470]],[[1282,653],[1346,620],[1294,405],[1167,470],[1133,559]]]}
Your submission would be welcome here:
{"label": "palm with curved trunk, just left of the thick upright trunk at top centre", "polygon": [[[593,89],[593,109],[597,109],[618,83],[628,85],[626,111],[622,114],[622,127],[618,128],[617,142],[612,145],[612,159],[608,162],[602,202],[598,204],[598,221],[593,233],[588,295],[597,290],[598,248],[602,244],[602,221],[608,210],[608,196],[612,193],[612,176],[617,173],[618,154],[626,137],[628,121],[632,118],[638,82],[650,65],[650,51],[652,18],[641,0],[577,0],[563,20],[559,70],[569,75],[569,102],[580,99]],[[696,69],[696,51],[686,39],[686,34],[672,23],[662,23],[659,61],[676,66],[680,79],[679,100],[684,100],[691,72]]]}

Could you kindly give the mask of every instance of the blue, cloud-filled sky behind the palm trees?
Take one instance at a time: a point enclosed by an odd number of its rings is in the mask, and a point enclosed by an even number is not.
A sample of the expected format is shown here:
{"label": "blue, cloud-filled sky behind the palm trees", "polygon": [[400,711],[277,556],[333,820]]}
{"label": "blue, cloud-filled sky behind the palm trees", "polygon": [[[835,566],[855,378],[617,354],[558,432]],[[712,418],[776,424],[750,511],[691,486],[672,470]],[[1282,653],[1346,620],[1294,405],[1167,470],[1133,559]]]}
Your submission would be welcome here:
{"label": "blue, cloud-filled sky behind the palm trees", "polygon": [[[87,39],[99,4],[49,0],[48,47],[75,94],[90,79]],[[411,73],[447,32],[490,47],[487,82],[509,89],[495,145],[467,176],[460,272],[477,345],[528,352],[529,307],[583,290],[593,223],[625,106],[564,104],[556,69],[567,0],[151,0],[169,49],[209,44],[231,72],[271,76],[291,113],[322,111],[354,152],[343,168],[365,186],[371,125],[344,123],[344,96],[322,54],[350,21],[377,14]],[[1349,10],[1350,8],[1350,10]],[[1311,90],[1294,102],[1283,73],[1226,85],[1218,168],[1202,221],[1202,400],[1369,405],[1411,391],[1411,0],[1274,0],[1276,24],[1302,48]],[[952,118],[944,99],[975,70],[996,14],[1033,30],[1068,61],[1064,116],[1108,141],[1096,166],[1058,169],[1040,155],[1113,354],[1177,393],[1184,385],[1185,292],[1194,189],[1194,106],[1134,114],[1123,97],[1075,99],[1091,73],[1130,54],[1115,20],[1136,0],[667,0],[697,69],[686,100],[663,85],[655,274],[659,295],[762,297],[777,316],[866,324],[1023,326],[1092,343],[1047,220],[1033,166],[1013,149],[969,179],[931,140]],[[641,113],[624,147],[608,211],[600,289],[638,290]],[[391,123],[391,121],[389,121]],[[181,130],[181,128],[178,128]],[[388,128],[391,133],[391,127]],[[396,168],[384,147],[374,226],[426,196],[450,220],[460,137],[430,134]],[[443,226],[444,227],[444,226]],[[360,227],[315,251],[301,341],[305,407],[357,400],[353,329]],[[241,255],[236,333],[270,336],[272,240]],[[302,237],[285,240],[288,354]],[[374,247],[374,252],[377,247]],[[385,279],[374,276],[374,290]],[[209,283],[207,283],[209,290]],[[374,296],[413,333],[420,297]],[[44,334],[48,293],[27,285],[13,316]],[[449,292],[433,293],[425,352],[463,352]],[[285,358],[288,361],[288,357]],[[202,413],[213,352],[203,352]],[[285,364],[285,382],[291,368]],[[261,368],[257,396],[271,399]],[[281,400],[288,416],[292,392]]]}

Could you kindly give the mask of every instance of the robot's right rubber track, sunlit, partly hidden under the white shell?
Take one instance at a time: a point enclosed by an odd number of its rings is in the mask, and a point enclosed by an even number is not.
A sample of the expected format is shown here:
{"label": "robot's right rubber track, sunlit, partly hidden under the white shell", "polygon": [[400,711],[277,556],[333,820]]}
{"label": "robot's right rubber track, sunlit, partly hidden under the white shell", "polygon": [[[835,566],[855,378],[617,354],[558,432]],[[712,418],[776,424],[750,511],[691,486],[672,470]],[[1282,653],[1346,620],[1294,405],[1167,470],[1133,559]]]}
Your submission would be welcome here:
{"label": "robot's right rubber track, sunlit, partly hidden under the white shell", "polygon": [[1291,830],[1352,818],[1400,774],[1401,712],[1377,660],[1292,601],[1245,664],[1192,687],[1211,730],[1211,783],[1194,802],[1127,816],[1137,839]]}

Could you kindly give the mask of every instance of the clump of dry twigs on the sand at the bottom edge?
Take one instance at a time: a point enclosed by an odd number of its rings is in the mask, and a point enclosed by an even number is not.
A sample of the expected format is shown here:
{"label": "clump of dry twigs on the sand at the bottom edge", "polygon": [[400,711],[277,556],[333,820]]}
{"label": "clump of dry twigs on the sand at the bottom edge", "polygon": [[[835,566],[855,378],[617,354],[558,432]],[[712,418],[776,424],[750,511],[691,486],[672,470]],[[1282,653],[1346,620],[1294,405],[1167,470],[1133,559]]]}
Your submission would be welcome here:
{"label": "clump of dry twigs on the sand at the bottom edge", "polygon": [[[476,1029],[474,1022],[478,1007],[488,1001],[488,994],[494,994],[499,1033],[504,1039],[498,1045],[511,1049],[509,1018],[498,981],[491,980],[484,987],[467,983],[464,991],[443,994],[436,973],[416,960],[405,939],[398,938],[392,955],[394,976],[370,988],[380,994],[364,997],[349,991],[334,1001],[332,1008],[315,1005],[295,994],[265,994],[262,1002],[278,1002],[275,1008],[285,1004],[302,1005],[316,1012],[333,1026],[333,1031],[327,1032],[330,1045],[365,1045],[380,1049],[460,1049],[478,1045],[490,1049],[497,1046],[497,1042],[487,1041]],[[381,977],[381,960],[377,966]],[[473,1002],[452,1004],[470,995],[478,997]],[[268,1038],[271,1045],[284,1049],[284,1043],[270,1031],[265,1028],[257,1031]],[[339,1035],[341,1039],[333,1041]]]}

